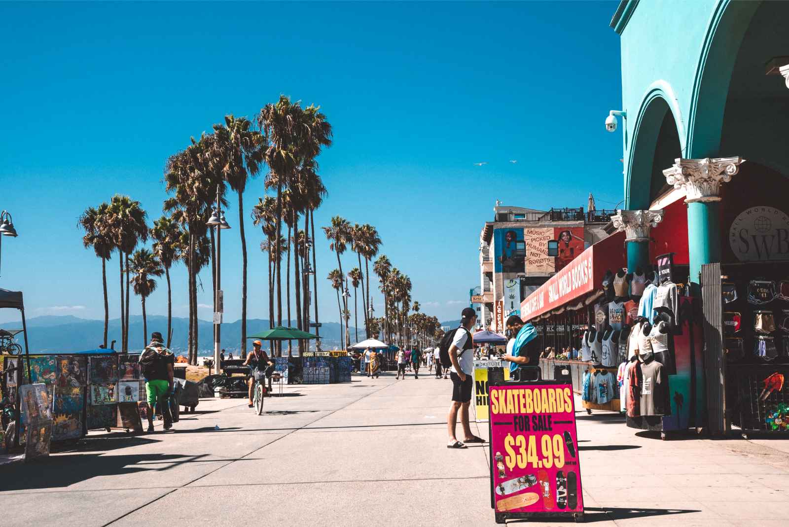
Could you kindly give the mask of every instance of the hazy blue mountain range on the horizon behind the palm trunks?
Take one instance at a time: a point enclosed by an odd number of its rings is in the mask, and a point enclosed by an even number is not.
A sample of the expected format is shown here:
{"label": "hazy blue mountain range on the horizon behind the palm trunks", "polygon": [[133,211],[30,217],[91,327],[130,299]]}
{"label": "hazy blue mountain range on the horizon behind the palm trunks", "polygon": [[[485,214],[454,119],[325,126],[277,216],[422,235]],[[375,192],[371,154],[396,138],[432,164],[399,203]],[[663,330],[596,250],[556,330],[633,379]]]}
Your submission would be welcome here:
{"label": "hazy blue mountain range on the horizon behind the palm trunks", "polygon": [[[28,346],[30,353],[41,351],[64,353],[81,351],[84,349],[95,349],[102,343],[104,333],[103,320],[80,319],[77,316],[47,315],[36,316],[27,320],[28,324]],[[458,327],[459,321],[442,323],[443,326]],[[200,355],[207,355],[214,349],[213,323],[208,320],[198,321],[198,348]],[[296,327],[296,321],[290,321],[291,327]],[[18,329],[22,327],[21,320],[16,322],[2,323],[3,329]],[[257,332],[268,329],[268,320],[248,319],[247,336],[255,335]],[[164,335],[167,331],[167,317],[160,315],[148,316],[148,334],[159,331]],[[340,345],[341,335],[340,324],[337,322],[324,322],[320,327],[321,347],[323,349],[335,349]],[[175,353],[186,353],[187,335],[189,332],[189,319],[173,317],[173,341],[170,346]],[[313,328],[312,332],[315,332]],[[142,316],[129,317],[129,349],[142,349],[148,344],[147,339],[143,338],[143,318]],[[357,342],[356,329],[350,328],[351,342]],[[359,340],[364,340],[364,329],[359,329]],[[112,319],[109,323],[107,333],[107,345],[110,341],[121,339],[121,321]],[[24,346],[22,335],[17,335],[17,342]],[[238,353],[241,349],[241,320],[235,322],[222,323],[222,348],[227,353]],[[297,346],[296,342],[293,343]],[[266,345],[264,344],[264,347]],[[249,349],[251,345],[247,347]],[[119,342],[115,343],[115,348],[119,349]]]}

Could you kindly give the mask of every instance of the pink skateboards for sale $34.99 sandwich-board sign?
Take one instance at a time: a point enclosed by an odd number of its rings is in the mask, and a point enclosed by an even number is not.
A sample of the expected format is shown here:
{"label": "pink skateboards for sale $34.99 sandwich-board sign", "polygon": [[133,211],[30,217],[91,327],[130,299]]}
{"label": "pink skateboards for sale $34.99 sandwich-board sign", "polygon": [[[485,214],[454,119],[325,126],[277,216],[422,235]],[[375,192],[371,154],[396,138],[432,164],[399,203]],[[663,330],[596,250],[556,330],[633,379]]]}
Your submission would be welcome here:
{"label": "pink skateboards for sale $34.99 sandwich-board sign", "polygon": [[582,516],[573,390],[564,383],[488,387],[496,521]]}

